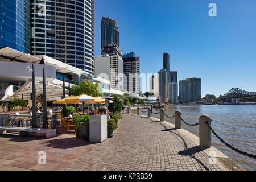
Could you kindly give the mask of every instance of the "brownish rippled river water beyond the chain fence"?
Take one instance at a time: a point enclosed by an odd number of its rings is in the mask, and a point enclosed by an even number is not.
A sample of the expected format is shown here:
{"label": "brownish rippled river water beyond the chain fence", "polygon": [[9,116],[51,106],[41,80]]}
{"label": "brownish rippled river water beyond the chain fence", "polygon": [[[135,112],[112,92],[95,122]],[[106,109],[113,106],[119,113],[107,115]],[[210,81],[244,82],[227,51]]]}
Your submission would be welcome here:
{"label": "brownish rippled river water beyond the chain fence", "polygon": [[[212,128],[227,143],[239,150],[256,155],[256,106],[253,105],[169,105],[164,106],[164,113],[168,116],[174,115],[175,110],[181,111],[181,117],[187,123],[199,122],[202,114],[212,118]],[[145,110],[143,110],[145,111]],[[159,109],[153,109],[158,113]],[[141,113],[147,115],[147,113]],[[159,114],[152,114],[152,117],[159,118]],[[165,121],[174,124],[174,118],[164,117]],[[188,126],[181,121],[181,127],[199,137],[199,126]],[[233,133],[234,131],[234,133]],[[233,138],[233,139],[232,139]],[[226,147],[212,133],[212,146],[234,158],[234,162],[240,164],[246,170],[256,169],[256,160],[249,158]]]}

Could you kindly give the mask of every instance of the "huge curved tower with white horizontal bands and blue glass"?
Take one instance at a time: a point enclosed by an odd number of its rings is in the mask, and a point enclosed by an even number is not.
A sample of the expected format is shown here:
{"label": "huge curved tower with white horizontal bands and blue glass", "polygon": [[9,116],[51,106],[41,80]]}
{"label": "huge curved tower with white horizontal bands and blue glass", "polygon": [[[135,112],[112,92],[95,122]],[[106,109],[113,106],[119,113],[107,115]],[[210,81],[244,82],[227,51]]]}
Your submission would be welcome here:
{"label": "huge curved tower with white horizontal bands and blue glass", "polygon": [[94,0],[30,0],[30,53],[94,74]]}

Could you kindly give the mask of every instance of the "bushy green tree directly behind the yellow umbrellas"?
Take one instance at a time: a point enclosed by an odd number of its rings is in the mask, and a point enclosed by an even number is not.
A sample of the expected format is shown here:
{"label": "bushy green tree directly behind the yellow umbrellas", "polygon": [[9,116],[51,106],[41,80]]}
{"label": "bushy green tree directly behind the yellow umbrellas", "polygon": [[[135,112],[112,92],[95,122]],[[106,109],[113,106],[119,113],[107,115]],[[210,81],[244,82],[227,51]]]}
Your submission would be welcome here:
{"label": "bushy green tree directly behind the yellow umbrellas", "polygon": [[95,84],[88,80],[82,80],[79,85],[74,84],[71,87],[71,94],[73,96],[79,96],[81,94],[87,94],[88,96],[92,97],[102,97],[102,93],[100,91],[98,82],[96,81]]}

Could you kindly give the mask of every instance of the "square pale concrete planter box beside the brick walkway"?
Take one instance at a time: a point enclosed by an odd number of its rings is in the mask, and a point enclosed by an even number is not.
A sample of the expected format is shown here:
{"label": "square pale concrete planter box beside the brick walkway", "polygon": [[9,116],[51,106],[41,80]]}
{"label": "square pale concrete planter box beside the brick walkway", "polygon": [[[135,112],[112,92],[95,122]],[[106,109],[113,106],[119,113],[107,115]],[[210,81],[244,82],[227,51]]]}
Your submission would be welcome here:
{"label": "square pale concrete planter box beside the brick walkway", "polygon": [[103,142],[107,139],[107,115],[90,115],[89,135],[90,142]]}

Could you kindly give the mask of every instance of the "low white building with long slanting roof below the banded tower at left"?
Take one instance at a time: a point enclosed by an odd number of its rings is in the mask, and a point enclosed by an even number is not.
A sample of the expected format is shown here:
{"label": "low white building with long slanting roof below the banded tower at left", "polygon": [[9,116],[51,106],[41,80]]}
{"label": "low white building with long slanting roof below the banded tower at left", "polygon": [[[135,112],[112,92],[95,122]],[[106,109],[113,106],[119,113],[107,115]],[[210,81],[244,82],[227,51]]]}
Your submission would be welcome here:
{"label": "low white building with long slanting roof below the banded tower at left", "polygon": [[0,100],[7,93],[13,94],[16,92],[31,78],[31,72],[27,72],[27,67],[31,69],[32,63],[35,68],[35,78],[38,81],[42,81],[42,69],[45,68],[46,81],[49,84],[62,86],[64,78],[65,86],[68,88],[69,84],[72,86],[73,84],[79,84],[82,80],[89,80],[94,84],[96,81],[98,82],[99,89],[102,90],[104,96],[110,96],[111,94],[123,96],[125,93],[110,88],[109,80],[52,57],[46,55],[30,56],[9,47],[2,47],[0,48]]}

